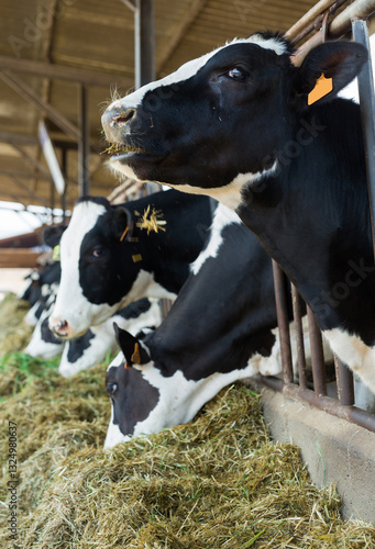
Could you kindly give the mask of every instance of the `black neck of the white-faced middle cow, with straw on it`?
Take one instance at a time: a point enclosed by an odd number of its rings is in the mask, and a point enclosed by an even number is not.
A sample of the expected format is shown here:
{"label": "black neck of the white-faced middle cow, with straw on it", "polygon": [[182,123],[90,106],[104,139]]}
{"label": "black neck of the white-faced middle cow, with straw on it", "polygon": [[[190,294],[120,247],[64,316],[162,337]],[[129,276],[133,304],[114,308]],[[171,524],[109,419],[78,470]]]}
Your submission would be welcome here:
{"label": "black neck of the white-faced middle cow, with straw on it", "polygon": [[[159,219],[165,222],[157,233],[147,234],[147,229],[137,226],[148,204],[151,210],[161,212]],[[129,209],[134,220],[132,238],[137,239],[134,256],[140,259],[140,269],[152,272],[157,284],[177,294],[189,276],[189,264],[203,246],[211,223],[209,199],[170,190],[134,201]]]}

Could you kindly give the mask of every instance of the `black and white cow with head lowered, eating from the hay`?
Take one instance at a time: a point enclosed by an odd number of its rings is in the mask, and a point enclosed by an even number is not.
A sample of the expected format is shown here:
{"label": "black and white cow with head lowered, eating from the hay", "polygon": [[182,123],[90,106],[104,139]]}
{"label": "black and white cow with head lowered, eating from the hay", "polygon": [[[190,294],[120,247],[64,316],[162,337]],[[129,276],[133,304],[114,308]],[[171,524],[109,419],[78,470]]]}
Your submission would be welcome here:
{"label": "black and white cow with head lowered, eating from the hay", "polygon": [[139,338],[117,327],[123,355],[107,371],[111,419],[104,448],[189,422],[236,380],[279,373],[276,326],[271,259],[220,204],[209,243],[161,326]]}

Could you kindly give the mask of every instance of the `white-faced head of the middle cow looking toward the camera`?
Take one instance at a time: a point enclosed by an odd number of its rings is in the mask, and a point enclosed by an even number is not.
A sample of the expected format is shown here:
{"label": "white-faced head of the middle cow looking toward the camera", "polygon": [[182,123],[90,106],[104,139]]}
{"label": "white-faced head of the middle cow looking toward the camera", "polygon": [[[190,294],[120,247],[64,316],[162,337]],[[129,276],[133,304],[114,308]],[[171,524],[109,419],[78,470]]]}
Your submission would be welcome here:
{"label": "white-faced head of the middle cow looking toward the camera", "polygon": [[141,271],[134,258],[141,254],[129,238],[130,223],[126,209],[103,198],[77,202],[60,239],[62,279],[49,318],[58,337],[79,337],[134,301],[131,289]]}

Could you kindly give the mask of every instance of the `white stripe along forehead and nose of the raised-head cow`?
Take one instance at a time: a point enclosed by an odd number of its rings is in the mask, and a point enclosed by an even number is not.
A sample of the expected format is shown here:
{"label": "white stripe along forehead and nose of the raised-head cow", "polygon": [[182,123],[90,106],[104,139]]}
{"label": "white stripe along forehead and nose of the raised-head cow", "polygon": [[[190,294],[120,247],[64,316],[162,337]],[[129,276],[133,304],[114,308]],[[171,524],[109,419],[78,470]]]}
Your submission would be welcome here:
{"label": "white stripe along forehead and nose of the raised-head cow", "polygon": [[201,57],[197,57],[196,59],[191,59],[184,65],[181,65],[175,72],[161,78],[159,80],[155,80],[154,82],[150,82],[146,86],[143,86],[139,90],[130,93],[123,99],[114,101],[109,109],[121,109],[129,107],[137,107],[141,104],[142,99],[144,98],[147,91],[154,90],[162,86],[170,86],[177,82],[181,82],[195,76],[199,69],[201,69],[214,55],[217,55],[222,49],[230,47],[233,44],[255,44],[257,46],[263,47],[264,49],[273,49],[277,55],[283,55],[287,52],[287,44],[283,40],[278,40],[277,37],[265,38],[262,34],[253,34],[247,38],[234,38],[232,42],[227,43],[224,46],[220,46],[213,52],[202,55]]}

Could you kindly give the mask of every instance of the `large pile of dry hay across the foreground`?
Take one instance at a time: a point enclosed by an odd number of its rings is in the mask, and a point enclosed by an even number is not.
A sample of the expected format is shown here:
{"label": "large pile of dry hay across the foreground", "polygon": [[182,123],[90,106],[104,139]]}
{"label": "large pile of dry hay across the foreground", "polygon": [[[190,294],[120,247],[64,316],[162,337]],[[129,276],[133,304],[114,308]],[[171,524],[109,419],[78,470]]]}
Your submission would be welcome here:
{"label": "large pile of dry hay across the foreground", "polygon": [[[19,360],[2,365],[5,378]],[[269,441],[260,396],[241,384],[189,425],[101,450],[104,369],[62,379],[34,360],[15,389],[3,384],[14,390],[0,417],[18,423],[20,539],[8,541],[3,528],[2,548],[375,546],[373,527],[340,518],[333,486],[311,484],[295,446]]]}

